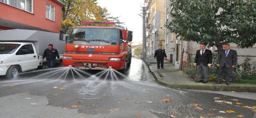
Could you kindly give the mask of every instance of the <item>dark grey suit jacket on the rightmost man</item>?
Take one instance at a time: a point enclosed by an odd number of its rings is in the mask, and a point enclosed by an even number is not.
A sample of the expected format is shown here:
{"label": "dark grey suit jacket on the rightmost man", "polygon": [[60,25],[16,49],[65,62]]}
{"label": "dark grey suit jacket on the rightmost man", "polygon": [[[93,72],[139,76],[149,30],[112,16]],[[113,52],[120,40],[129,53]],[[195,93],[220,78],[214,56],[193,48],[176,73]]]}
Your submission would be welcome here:
{"label": "dark grey suit jacket on the rightmost man", "polygon": [[236,66],[237,64],[237,52],[236,50],[229,50],[227,57],[225,56],[225,50],[221,50],[219,52],[219,57],[217,60],[217,64],[223,67],[225,64],[226,66],[232,67],[232,65]]}

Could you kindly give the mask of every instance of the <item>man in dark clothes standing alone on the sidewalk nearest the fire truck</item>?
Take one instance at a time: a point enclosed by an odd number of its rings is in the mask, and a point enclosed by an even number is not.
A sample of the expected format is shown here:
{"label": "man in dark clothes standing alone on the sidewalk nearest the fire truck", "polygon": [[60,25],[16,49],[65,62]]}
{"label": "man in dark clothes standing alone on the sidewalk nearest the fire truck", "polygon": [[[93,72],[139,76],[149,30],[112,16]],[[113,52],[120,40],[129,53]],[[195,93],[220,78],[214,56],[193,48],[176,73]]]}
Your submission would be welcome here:
{"label": "man in dark clothes standing alone on the sidewalk nearest the fire truck", "polygon": [[163,69],[163,59],[166,58],[165,50],[162,50],[162,46],[158,47],[158,50],[156,50],[154,59],[157,61],[157,68],[160,69],[160,62],[161,62],[161,68]]}

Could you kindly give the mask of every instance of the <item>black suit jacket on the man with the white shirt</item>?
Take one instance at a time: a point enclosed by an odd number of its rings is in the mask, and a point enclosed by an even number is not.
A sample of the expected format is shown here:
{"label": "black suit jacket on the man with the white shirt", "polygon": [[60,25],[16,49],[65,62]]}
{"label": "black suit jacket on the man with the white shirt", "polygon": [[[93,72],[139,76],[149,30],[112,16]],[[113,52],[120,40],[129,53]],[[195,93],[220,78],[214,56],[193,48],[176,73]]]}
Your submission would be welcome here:
{"label": "black suit jacket on the man with the white shirt", "polygon": [[203,55],[200,54],[200,50],[197,50],[195,62],[197,65],[202,63],[204,66],[212,63],[212,53],[211,50],[205,49]]}

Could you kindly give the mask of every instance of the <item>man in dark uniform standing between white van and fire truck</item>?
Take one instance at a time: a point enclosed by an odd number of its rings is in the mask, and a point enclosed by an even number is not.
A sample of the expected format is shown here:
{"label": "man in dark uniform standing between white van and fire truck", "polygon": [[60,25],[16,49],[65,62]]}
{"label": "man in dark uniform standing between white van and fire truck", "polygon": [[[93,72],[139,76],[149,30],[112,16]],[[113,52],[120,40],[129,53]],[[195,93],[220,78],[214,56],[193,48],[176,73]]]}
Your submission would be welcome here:
{"label": "man in dark uniform standing between white van and fire truck", "polygon": [[59,61],[58,50],[54,49],[52,44],[49,44],[48,48],[45,49],[45,52],[44,52],[44,55],[43,55],[43,61],[46,58],[48,68],[54,68],[54,63],[55,63],[56,56],[58,57],[58,61]]}

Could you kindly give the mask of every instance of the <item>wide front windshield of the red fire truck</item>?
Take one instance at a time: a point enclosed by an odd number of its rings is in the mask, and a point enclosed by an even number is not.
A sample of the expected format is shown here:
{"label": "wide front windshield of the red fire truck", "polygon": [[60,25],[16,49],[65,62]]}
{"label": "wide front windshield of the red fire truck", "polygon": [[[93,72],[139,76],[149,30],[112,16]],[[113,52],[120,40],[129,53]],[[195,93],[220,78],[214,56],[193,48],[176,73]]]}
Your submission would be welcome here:
{"label": "wide front windshield of the red fire truck", "polygon": [[69,41],[102,41],[118,42],[118,29],[100,28],[73,28],[69,35]]}

